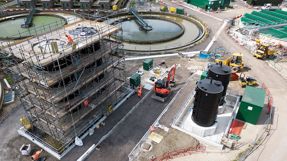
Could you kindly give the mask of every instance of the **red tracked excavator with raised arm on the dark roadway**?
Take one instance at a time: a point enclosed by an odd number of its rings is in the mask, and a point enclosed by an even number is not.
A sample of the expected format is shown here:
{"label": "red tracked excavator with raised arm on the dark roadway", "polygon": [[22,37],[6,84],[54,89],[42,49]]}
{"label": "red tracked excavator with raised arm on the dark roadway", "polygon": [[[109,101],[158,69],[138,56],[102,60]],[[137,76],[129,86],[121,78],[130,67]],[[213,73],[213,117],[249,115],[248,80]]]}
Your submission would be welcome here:
{"label": "red tracked excavator with raised arm on the dark roadway", "polygon": [[[154,83],[154,92],[156,95],[152,95],[152,98],[157,99],[159,101],[166,101],[168,97],[171,95],[172,91],[170,89],[170,86],[173,86],[175,81],[174,81],[174,72],[175,72],[176,64],[170,69],[167,75],[167,80],[164,82],[164,80],[157,80]],[[165,85],[164,85],[165,83]],[[171,91],[171,93],[170,93]]]}

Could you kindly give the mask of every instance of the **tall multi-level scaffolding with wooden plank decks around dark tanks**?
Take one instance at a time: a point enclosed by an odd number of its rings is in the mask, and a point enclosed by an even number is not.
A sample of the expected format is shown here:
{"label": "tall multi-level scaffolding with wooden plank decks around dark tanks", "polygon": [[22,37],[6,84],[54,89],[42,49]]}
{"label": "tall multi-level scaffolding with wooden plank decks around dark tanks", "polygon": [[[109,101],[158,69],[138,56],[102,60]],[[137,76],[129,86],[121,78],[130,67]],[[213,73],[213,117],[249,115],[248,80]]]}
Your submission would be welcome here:
{"label": "tall multi-level scaffolding with wooden plank decks around dark tanks", "polygon": [[[113,113],[131,88],[125,82],[123,44],[110,39],[113,34],[121,40],[121,23],[75,18],[64,26],[57,22],[56,29],[43,25],[0,43],[5,69],[18,89],[26,119],[51,136],[53,144],[62,145],[51,148],[59,155],[75,136],[84,135]],[[15,41],[21,36],[22,40]],[[34,128],[30,133],[35,134]]]}

